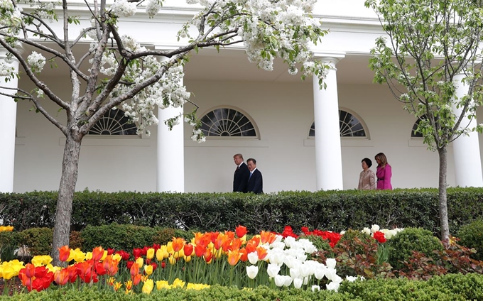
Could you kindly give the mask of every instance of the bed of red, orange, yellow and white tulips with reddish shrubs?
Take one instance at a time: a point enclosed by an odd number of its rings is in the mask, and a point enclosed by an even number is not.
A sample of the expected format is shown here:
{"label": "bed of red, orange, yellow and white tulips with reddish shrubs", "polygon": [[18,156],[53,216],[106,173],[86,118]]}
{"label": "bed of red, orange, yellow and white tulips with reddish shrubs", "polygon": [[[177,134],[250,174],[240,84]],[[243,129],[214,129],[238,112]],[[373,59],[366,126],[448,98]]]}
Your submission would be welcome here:
{"label": "bed of red, orange, yellow and white tulips with reddish shrubs", "polygon": [[[151,294],[171,288],[202,290],[212,285],[337,292],[344,280],[482,273],[482,262],[471,259],[472,250],[456,241],[435,252],[436,259],[415,251],[404,262],[405,268],[393,270],[388,262],[389,243],[406,232],[373,225],[341,234],[308,228],[295,234],[286,226],[281,234],[261,231],[247,237],[246,227],[238,226],[235,231],[195,233],[189,242],[173,237],[165,245],[134,248],[132,252],[97,247],[84,253],[64,246],[60,248],[64,267],[52,266],[50,256],[34,256],[26,264],[2,262],[0,276],[6,283],[4,295],[8,295],[16,278],[26,291],[95,286],[126,294]],[[316,248],[314,236],[326,245]]]}

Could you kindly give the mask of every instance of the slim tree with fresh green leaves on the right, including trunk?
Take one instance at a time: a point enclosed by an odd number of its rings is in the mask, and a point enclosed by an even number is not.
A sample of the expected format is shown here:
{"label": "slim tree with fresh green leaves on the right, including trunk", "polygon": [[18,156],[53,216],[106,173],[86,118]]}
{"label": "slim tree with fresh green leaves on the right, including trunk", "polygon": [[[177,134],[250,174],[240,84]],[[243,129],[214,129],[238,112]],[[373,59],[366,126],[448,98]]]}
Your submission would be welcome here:
{"label": "slim tree with fresh green leaves on the right, including trunk", "polygon": [[[378,3],[379,2],[379,3]],[[376,82],[387,83],[404,109],[419,118],[416,131],[438,151],[441,238],[447,241],[447,146],[470,131],[482,105],[483,11],[474,0],[367,0],[387,38],[370,60]],[[467,88],[465,95],[458,86]],[[479,164],[479,163],[477,163]]]}

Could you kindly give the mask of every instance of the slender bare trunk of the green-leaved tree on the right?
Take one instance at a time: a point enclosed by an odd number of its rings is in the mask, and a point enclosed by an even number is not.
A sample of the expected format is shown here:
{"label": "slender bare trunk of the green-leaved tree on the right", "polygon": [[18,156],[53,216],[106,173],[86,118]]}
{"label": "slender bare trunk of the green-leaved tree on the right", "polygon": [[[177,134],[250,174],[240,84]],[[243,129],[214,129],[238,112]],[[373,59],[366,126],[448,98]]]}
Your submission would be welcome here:
{"label": "slender bare trunk of the green-leaved tree on the right", "polygon": [[447,174],[447,146],[438,149],[440,155],[440,226],[441,226],[441,241],[447,246],[450,239],[450,226],[447,221],[447,195],[446,195],[446,174]]}

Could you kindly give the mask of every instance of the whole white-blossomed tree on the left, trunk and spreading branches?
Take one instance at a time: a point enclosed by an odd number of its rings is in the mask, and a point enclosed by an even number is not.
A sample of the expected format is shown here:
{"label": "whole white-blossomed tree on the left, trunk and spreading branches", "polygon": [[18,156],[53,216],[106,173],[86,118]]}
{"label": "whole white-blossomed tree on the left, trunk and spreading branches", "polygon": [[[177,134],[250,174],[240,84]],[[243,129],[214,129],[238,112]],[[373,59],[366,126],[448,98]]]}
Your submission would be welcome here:
{"label": "whole white-blossomed tree on the left, trunk and spreading branches", "polygon": [[[242,44],[249,61],[264,70],[272,70],[274,58],[282,58],[291,74],[298,72],[300,64],[303,77],[318,75],[321,85],[327,69],[312,60],[310,52],[310,45],[318,43],[326,33],[320,22],[310,16],[316,0],[187,0],[188,4],[199,4],[200,11],[178,32],[184,45],[165,51],[142,47],[134,37],[121,35],[117,26],[121,18],[133,16],[141,4],[148,17],[154,18],[162,0],[119,0],[112,5],[106,0],[86,1],[85,6],[92,14],[91,23],[80,32],[70,30],[72,24],[81,21],[70,14],[66,0],[62,1],[61,9],[50,2],[25,2],[0,0],[0,45],[9,52],[8,58],[0,62],[0,76],[6,80],[18,76],[9,65],[15,58],[36,88],[31,92],[10,89],[10,94],[1,94],[16,101],[33,102],[36,111],[66,138],[53,239],[53,258],[57,264],[58,248],[69,241],[82,138],[105,113],[117,107],[124,109],[131,121],[139,122],[139,132],[149,133],[147,127],[158,122],[153,114],[156,106],[183,106],[190,94],[181,84],[182,66],[188,61],[190,50],[205,47],[219,50]],[[53,22],[62,22],[63,31],[55,31],[50,25]],[[89,50],[75,55],[79,52],[74,49],[82,43],[90,43]],[[38,52],[26,53],[25,59],[20,50],[22,45]],[[48,53],[52,58],[40,53]],[[158,60],[161,57],[163,60]],[[87,61],[89,70],[83,72],[80,65]],[[67,65],[72,84],[70,99],[62,99],[40,79],[39,74],[48,62]],[[41,98],[60,106],[67,121],[62,123],[49,114]],[[192,139],[203,141],[195,112],[173,116],[165,124],[171,128],[183,118],[193,126]]]}

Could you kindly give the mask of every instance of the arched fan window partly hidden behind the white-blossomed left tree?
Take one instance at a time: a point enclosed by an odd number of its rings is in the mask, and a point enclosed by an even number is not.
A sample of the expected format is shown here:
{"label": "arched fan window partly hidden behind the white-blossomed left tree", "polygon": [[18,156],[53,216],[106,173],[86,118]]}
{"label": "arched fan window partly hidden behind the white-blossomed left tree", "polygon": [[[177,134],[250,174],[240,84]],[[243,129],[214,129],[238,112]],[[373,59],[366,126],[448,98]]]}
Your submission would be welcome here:
{"label": "arched fan window partly hidden behind the white-blossomed left tree", "polygon": [[136,124],[121,109],[109,110],[89,131],[89,135],[137,135]]}

